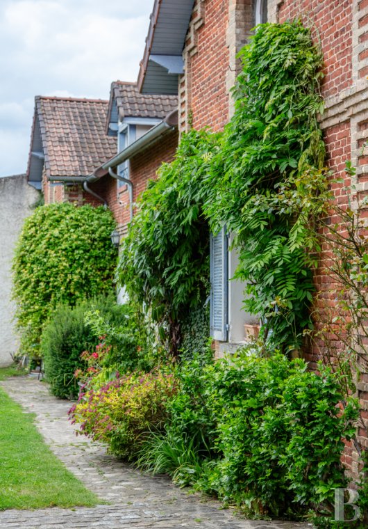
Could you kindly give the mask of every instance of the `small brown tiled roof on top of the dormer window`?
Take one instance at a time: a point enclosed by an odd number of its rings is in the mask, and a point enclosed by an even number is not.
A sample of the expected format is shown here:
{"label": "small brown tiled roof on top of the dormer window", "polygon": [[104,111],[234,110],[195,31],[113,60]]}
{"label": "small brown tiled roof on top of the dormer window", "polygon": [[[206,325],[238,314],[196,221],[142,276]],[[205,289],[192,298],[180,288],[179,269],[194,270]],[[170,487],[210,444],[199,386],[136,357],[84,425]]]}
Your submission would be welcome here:
{"label": "small brown tiled roof on top of the dormer window", "polygon": [[164,119],[169,112],[178,108],[176,95],[141,94],[135,83],[115,81],[111,84],[108,123],[111,120],[112,105],[117,105],[122,118]]}

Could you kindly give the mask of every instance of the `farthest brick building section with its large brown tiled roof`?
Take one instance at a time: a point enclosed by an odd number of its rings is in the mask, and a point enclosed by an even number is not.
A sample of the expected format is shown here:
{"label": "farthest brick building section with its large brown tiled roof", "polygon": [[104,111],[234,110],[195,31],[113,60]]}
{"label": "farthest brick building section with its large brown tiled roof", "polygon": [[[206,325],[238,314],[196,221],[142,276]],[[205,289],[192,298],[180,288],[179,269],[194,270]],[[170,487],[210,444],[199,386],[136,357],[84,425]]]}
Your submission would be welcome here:
{"label": "farthest brick building section with its large brown tiled roof", "polygon": [[94,200],[83,181],[116,152],[106,135],[107,112],[107,101],[35,97],[27,180],[45,203]]}

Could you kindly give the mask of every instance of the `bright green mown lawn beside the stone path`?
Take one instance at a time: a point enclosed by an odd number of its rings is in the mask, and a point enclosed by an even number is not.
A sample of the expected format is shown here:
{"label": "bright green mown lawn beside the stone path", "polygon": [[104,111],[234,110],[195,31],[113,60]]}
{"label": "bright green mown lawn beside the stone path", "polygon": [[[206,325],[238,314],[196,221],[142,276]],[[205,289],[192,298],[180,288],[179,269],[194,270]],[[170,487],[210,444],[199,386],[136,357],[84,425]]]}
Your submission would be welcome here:
{"label": "bright green mown lawn beside the stone path", "polygon": [[0,510],[105,503],[53,455],[33,417],[0,388]]}

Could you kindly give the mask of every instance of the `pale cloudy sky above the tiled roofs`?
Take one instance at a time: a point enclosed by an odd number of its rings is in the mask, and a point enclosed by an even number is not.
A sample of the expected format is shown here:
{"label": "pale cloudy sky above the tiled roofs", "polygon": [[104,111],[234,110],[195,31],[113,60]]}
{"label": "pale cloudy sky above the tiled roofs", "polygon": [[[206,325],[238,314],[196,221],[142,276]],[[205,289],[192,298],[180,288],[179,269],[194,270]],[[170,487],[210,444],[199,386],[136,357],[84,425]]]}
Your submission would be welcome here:
{"label": "pale cloudy sky above the tiled roofs", "polygon": [[0,177],[26,172],[35,95],[136,81],[153,0],[0,0]]}

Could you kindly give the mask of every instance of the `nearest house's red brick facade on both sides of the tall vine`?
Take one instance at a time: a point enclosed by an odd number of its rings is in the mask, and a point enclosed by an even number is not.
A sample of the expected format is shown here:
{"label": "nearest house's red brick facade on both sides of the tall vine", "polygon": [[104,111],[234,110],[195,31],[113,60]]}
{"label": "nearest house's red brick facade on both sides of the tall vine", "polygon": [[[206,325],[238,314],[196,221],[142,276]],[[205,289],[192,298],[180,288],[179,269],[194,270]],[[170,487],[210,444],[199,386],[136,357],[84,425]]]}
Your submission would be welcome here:
{"label": "nearest house's red brick facade on both sides of the tall vine", "polygon": [[[191,125],[219,130],[228,122],[232,112],[229,88],[237,69],[235,53],[254,25],[255,4],[250,0],[196,0],[183,53],[185,74],[179,81],[182,131]],[[324,55],[322,94],[326,112],[321,127],[327,164],[344,179],[344,184],[333,184],[333,193],[337,203],[345,205],[344,186],[355,184],[358,191],[368,189],[368,150],[362,152],[368,139],[368,0],[268,1],[269,22],[299,17],[310,26]],[[358,167],[353,182],[344,171],[346,160]],[[323,270],[331,258],[325,248],[315,282],[322,292],[320,303],[333,307],[335,301],[328,293],[333,285]],[[320,351],[319,347],[310,347],[306,352],[312,368]],[[358,396],[362,418],[368,425],[368,374],[362,375]],[[365,430],[360,434],[366,436]],[[368,447],[367,438],[361,441]],[[351,447],[346,449],[344,461],[356,471],[357,455]]]}

